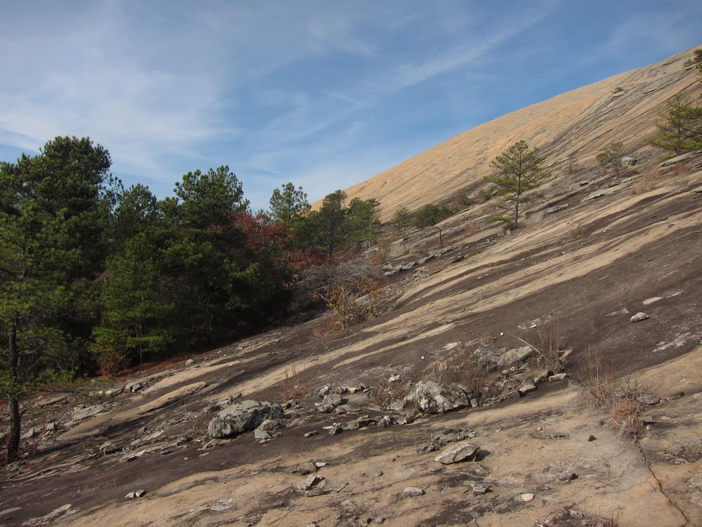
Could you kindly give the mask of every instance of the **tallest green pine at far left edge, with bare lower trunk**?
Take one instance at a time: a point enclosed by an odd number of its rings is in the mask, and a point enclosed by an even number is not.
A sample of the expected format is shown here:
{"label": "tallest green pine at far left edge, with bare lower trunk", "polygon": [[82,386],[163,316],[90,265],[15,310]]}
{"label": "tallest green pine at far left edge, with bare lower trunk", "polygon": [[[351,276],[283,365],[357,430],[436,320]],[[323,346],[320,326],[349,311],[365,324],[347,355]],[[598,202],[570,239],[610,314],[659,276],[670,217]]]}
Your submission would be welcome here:
{"label": "tallest green pine at far left edge, with bare lower trunk", "polygon": [[[107,253],[110,155],[58,137],[39,155],[0,164],[0,394],[8,400],[8,459],[20,446],[20,399],[81,360],[86,286]],[[88,311],[90,311],[88,309]]]}

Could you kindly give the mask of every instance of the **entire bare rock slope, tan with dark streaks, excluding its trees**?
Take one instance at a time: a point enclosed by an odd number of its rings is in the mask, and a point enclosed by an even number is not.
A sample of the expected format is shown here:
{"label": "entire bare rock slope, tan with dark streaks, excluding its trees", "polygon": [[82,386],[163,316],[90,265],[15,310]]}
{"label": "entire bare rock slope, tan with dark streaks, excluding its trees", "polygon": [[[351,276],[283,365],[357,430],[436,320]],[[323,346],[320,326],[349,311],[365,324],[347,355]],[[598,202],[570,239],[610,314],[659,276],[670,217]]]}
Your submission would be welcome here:
{"label": "entire bare rock slope, tan with dark streaks, excluding its trees", "polygon": [[[28,401],[34,451],[3,475],[0,523],[701,525],[702,152],[661,164],[644,146],[666,98],[698,93],[687,56],[349,189],[386,215],[448,200],[518,138],[551,172],[512,233],[485,223],[490,202],[444,221],[440,240],[394,233],[365,323],[330,332],[327,313],[145,365],[88,398]],[[637,159],[621,178],[592,160],[611,141]],[[222,436],[244,401],[280,407]]]}

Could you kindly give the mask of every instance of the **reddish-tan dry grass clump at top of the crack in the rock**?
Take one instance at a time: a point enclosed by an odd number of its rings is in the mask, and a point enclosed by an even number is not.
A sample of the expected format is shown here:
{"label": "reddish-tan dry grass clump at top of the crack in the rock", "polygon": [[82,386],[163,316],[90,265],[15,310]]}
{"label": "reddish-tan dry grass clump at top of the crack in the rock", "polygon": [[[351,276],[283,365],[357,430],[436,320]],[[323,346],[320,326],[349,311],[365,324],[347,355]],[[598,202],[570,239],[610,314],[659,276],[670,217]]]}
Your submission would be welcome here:
{"label": "reddish-tan dry grass clump at top of the crack in the rock", "polygon": [[641,386],[628,377],[616,377],[604,364],[602,355],[589,356],[582,379],[592,402],[609,412],[609,426],[625,438],[636,438],[642,433],[639,418],[644,406],[638,401]]}

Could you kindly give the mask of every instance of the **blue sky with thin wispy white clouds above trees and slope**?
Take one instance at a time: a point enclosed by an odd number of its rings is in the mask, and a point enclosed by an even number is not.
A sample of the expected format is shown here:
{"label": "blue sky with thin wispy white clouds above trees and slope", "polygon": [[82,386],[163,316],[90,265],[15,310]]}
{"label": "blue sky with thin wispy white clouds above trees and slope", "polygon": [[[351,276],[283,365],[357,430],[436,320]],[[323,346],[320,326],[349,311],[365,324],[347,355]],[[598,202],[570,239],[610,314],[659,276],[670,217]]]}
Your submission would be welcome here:
{"label": "blue sky with thin wispy white clouds above trees and slope", "polygon": [[55,136],[158,197],[228,165],[310,202],[512,110],[702,45],[699,0],[0,0],[0,160]]}

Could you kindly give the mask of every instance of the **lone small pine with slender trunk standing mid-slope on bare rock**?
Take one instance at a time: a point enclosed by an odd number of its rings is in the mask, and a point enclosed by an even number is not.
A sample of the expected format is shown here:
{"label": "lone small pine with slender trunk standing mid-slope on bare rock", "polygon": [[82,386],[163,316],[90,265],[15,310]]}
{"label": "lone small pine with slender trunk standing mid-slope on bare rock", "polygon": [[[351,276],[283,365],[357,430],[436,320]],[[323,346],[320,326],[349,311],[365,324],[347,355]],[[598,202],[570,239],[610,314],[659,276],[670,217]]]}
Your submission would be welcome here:
{"label": "lone small pine with slender trunk standing mid-slope on bare rock", "polygon": [[490,163],[498,174],[486,176],[485,181],[500,188],[503,207],[513,211],[511,221],[514,228],[519,221],[519,206],[529,201],[529,190],[541,184],[544,177],[542,164],[538,149],[529,148],[526,141],[517,141]]}

